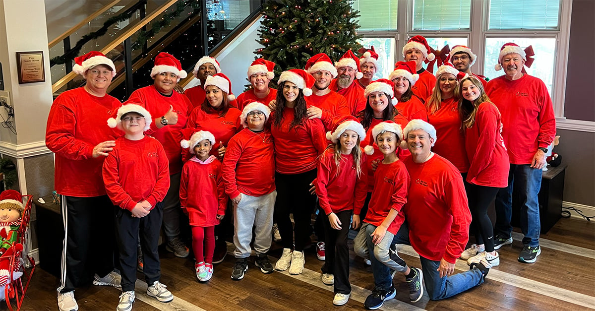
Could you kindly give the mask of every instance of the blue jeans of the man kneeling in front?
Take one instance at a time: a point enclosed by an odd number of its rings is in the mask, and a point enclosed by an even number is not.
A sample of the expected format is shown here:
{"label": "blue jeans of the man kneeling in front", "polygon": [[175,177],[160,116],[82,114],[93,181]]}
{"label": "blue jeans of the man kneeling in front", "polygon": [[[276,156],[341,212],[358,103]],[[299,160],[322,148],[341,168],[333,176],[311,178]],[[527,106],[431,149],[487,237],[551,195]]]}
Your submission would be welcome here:
{"label": "blue jeans of the man kneeling in front", "polygon": [[440,278],[440,272],[437,271],[440,266],[439,261],[422,256],[419,256],[419,260],[424,272],[425,290],[431,300],[455,296],[484,282],[483,275],[477,268]]}

